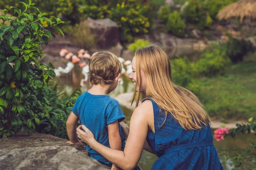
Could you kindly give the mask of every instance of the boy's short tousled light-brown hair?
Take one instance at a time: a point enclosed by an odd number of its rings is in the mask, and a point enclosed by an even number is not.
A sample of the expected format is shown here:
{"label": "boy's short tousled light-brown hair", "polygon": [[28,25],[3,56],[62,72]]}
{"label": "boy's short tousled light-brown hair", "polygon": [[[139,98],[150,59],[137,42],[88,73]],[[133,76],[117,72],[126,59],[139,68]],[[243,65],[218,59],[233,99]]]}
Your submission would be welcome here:
{"label": "boy's short tousled light-brown hair", "polygon": [[90,82],[93,85],[111,84],[122,72],[122,65],[115,54],[100,51],[95,54],[89,63]]}

